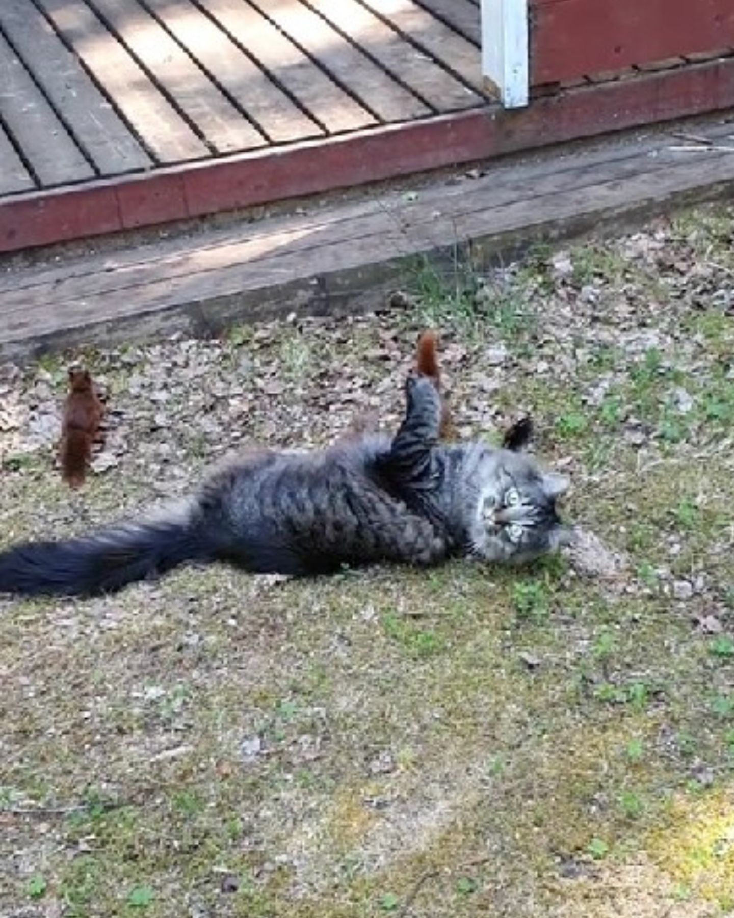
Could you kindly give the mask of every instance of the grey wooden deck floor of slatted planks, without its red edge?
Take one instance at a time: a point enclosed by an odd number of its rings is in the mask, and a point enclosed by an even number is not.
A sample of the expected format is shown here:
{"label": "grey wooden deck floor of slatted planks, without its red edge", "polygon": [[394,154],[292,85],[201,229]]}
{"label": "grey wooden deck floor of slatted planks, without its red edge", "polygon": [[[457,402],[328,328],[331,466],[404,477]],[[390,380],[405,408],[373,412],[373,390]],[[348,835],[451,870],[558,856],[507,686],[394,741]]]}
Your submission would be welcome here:
{"label": "grey wooden deck floor of slatted planks, without its red edge", "polygon": [[478,33],[473,0],[2,0],[0,196],[483,106]]}

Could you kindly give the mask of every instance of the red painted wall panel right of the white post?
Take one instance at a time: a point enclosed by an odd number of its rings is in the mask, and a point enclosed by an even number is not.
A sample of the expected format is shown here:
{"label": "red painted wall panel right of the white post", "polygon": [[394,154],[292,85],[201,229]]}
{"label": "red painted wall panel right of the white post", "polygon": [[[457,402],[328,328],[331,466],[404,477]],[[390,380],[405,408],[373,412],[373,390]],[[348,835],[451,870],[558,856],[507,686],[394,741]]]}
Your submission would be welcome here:
{"label": "red painted wall panel right of the white post", "polygon": [[534,0],[530,82],[734,47],[732,0]]}

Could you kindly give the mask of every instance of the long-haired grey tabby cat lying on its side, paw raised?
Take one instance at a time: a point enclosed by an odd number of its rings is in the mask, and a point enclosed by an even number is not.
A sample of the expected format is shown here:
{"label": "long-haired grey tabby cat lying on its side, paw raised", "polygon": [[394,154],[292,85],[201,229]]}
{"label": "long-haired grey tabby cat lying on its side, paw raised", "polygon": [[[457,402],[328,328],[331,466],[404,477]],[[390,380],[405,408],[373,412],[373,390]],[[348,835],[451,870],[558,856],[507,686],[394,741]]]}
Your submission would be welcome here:
{"label": "long-haired grey tabby cat lying on its side, paw raised", "polygon": [[294,576],[461,554],[525,562],[568,543],[556,513],[564,478],[511,450],[439,444],[441,401],[427,377],[408,378],[406,399],[395,437],[245,456],[183,510],[10,548],[0,554],[0,591],[94,595],[189,561]]}

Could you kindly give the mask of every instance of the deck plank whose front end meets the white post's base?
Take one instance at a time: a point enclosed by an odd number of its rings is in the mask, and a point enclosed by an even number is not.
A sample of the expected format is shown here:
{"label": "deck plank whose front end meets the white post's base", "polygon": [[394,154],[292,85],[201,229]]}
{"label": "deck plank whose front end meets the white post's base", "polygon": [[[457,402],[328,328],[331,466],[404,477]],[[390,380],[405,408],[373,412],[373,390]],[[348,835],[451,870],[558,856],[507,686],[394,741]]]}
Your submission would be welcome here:
{"label": "deck plank whose front end meets the white post's base", "polygon": [[[357,0],[339,0],[339,3],[310,0],[310,5],[361,48],[370,51],[375,60],[436,111],[458,111],[481,103],[480,96],[407,44],[395,29],[386,26]],[[473,54],[477,54],[476,49]]]}

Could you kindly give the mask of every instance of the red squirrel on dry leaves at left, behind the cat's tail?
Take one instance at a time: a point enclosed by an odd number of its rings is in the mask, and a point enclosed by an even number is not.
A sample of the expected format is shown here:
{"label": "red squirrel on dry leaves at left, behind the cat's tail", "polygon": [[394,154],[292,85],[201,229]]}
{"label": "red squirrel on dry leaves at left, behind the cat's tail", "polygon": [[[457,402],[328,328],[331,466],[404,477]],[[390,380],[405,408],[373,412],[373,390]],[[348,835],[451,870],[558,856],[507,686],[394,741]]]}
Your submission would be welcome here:
{"label": "red squirrel on dry leaves at left, behind the cat's tail", "polygon": [[61,477],[69,487],[81,487],[92,461],[92,447],[100,438],[105,409],[88,370],[71,369],[69,386],[61,421]]}

